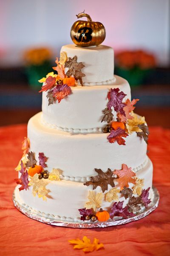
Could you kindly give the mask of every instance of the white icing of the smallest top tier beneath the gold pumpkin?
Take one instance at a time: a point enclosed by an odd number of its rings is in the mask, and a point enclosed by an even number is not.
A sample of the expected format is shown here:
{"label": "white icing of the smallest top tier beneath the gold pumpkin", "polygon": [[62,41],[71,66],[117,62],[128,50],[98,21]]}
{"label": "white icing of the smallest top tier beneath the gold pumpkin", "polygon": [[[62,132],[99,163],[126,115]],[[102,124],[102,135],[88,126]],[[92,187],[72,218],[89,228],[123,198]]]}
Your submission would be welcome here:
{"label": "white icing of the smallest top tier beneath the gold pumpkin", "polygon": [[83,48],[68,44],[62,46],[61,52],[66,52],[71,58],[76,55],[78,62],[85,65],[82,69],[82,73],[85,74],[82,78],[85,86],[108,84],[114,81],[113,48],[105,45]]}

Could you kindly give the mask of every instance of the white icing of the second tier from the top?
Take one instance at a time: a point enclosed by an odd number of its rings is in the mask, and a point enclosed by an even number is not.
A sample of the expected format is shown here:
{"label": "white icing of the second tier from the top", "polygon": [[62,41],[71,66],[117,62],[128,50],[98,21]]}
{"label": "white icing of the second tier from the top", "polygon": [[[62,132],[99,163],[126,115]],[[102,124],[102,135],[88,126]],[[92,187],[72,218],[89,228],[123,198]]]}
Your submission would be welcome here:
{"label": "white icing of the second tier from the top", "polygon": [[[81,129],[102,128],[105,122],[102,120],[102,110],[108,104],[108,92],[110,89],[119,88],[131,99],[130,86],[128,82],[116,76],[116,82],[110,85],[101,86],[76,86],[71,87],[72,94],[62,99],[60,103],[55,102],[53,105],[48,106],[47,92],[42,93],[42,113],[43,120],[46,123],[62,128]],[[113,109],[113,119],[116,120],[116,112]],[[60,129],[61,127],[61,129]]]}

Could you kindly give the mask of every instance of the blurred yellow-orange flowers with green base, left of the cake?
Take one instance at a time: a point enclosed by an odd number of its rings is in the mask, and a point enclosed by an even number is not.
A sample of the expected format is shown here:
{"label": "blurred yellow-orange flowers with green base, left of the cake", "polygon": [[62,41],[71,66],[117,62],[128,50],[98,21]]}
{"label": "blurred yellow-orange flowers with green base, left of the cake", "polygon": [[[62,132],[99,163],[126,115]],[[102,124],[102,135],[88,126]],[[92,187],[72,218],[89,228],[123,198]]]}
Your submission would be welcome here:
{"label": "blurred yellow-orange flowers with green base, left of the cake", "polygon": [[38,80],[51,69],[51,51],[48,48],[28,49],[24,53],[28,83],[33,89],[40,89]]}

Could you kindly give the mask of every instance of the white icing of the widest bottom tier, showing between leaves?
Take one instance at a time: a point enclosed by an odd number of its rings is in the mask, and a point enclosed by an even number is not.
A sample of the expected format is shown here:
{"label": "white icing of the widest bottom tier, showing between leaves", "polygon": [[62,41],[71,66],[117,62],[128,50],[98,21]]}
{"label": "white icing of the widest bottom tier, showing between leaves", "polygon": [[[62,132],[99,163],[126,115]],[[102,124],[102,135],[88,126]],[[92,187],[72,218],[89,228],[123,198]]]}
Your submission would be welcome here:
{"label": "white icing of the widest bottom tier, showing between leaves", "polygon": [[[150,160],[148,160],[147,165],[137,172],[137,177],[144,179],[144,189],[148,187],[152,188],[152,172],[153,166]],[[75,183],[74,181],[50,181],[46,180],[49,189],[49,198],[47,201],[42,201],[42,198],[34,197],[32,195],[32,188],[22,190],[19,192],[17,187],[17,201],[20,204],[24,204],[28,207],[30,211],[41,212],[41,215],[50,216],[52,215],[56,219],[68,220],[80,220],[80,215],[78,209],[84,208],[85,203],[88,201],[88,191],[92,190],[93,186],[85,186],[83,183]],[[116,187],[118,186],[115,182]],[[130,183],[130,188],[133,184]],[[107,193],[112,187],[108,185]],[[98,186],[95,192],[102,192],[101,188]],[[149,198],[153,199],[153,192],[150,189]],[[128,202],[128,199],[119,194],[119,201],[124,201],[123,207]],[[102,201],[102,208],[110,210],[114,201],[109,203],[105,201],[105,197]]]}

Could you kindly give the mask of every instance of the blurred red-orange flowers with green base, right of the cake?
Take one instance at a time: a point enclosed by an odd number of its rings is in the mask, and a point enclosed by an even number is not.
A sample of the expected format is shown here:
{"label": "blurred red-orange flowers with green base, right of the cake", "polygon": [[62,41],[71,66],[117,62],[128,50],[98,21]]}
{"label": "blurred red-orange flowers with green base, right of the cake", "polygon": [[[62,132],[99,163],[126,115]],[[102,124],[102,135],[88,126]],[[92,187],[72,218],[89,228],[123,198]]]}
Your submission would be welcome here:
{"label": "blurred red-orange flowers with green base, right of the cake", "polygon": [[116,75],[127,79],[130,86],[139,86],[156,66],[155,57],[142,50],[122,51],[116,57]]}

